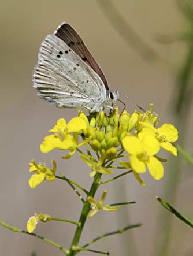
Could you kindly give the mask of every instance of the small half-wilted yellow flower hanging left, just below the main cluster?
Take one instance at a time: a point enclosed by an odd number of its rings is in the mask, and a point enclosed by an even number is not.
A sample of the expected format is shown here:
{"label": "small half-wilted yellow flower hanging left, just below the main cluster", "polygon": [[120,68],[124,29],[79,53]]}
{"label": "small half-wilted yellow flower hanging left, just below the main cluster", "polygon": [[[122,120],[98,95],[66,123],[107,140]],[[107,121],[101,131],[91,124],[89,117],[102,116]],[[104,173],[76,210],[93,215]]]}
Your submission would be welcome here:
{"label": "small half-wilted yellow flower hanging left, just below the main cluster", "polygon": [[56,162],[54,160],[52,160],[51,162],[53,163],[53,169],[48,168],[44,163],[40,163],[39,165],[37,165],[34,160],[29,163],[29,172],[35,172],[35,174],[32,175],[29,179],[29,187],[35,188],[44,180],[55,180]]}

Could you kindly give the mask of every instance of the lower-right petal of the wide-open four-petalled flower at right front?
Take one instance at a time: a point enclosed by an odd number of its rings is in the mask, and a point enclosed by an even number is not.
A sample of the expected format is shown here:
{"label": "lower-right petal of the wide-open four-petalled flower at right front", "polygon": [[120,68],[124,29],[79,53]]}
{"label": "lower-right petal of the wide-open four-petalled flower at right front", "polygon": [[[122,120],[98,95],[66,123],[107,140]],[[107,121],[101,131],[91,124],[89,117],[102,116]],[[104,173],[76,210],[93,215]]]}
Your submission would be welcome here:
{"label": "lower-right petal of the wide-open four-petalled flower at right front", "polygon": [[155,180],[160,180],[164,176],[164,166],[155,157],[150,157],[150,162],[147,162],[147,168]]}

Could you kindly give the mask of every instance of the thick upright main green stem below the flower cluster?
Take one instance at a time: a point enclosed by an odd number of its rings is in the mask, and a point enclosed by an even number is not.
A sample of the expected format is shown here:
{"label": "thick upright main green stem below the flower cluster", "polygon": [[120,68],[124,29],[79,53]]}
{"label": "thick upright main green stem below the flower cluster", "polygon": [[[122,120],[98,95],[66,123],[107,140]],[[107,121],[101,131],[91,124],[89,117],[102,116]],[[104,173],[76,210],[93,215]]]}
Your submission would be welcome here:
{"label": "thick upright main green stem below the flower cluster", "polygon": [[[90,191],[88,192],[88,196],[94,197],[94,195],[96,193],[96,190],[99,187],[100,179],[101,179],[101,173],[96,173],[96,175],[94,177],[94,181],[91,185]],[[83,231],[84,224],[86,222],[86,219],[87,219],[87,216],[88,216],[89,212],[90,212],[90,203],[88,201],[86,201],[84,203],[83,209],[81,211],[80,219],[79,219],[79,222],[80,222],[81,225],[80,225],[80,227],[76,228],[75,235],[74,235],[74,238],[73,238],[73,241],[72,241],[72,244],[71,244],[71,247],[70,247],[70,251],[69,251],[69,254],[68,254],[69,256],[74,256],[77,253],[76,248],[78,246],[80,236],[81,236],[81,232]]]}

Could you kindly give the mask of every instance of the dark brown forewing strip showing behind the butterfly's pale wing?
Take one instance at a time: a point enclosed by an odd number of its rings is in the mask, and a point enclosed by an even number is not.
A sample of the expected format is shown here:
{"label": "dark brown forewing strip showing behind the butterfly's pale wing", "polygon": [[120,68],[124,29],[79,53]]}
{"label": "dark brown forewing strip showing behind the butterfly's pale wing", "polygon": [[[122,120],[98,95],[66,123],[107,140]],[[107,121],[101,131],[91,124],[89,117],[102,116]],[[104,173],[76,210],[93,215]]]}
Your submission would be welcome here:
{"label": "dark brown forewing strip showing behind the butterfly's pale wing", "polygon": [[58,38],[62,39],[68,46],[77,54],[79,57],[86,62],[88,66],[90,66],[98,75],[101,77],[103,84],[105,85],[106,90],[109,90],[105,75],[103,74],[101,68],[95,61],[94,57],[88,50],[87,46],[84,44],[83,40],[77,34],[75,29],[71,27],[68,23],[62,23],[60,27],[58,27],[54,35]]}

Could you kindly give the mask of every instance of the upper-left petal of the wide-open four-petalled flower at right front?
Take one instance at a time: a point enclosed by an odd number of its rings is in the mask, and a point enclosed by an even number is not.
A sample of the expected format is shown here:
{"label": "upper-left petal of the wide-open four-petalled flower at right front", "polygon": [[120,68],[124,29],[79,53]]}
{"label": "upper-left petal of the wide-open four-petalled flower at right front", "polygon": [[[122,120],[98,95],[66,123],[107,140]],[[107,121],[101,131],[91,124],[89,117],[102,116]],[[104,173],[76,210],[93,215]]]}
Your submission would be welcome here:
{"label": "upper-left petal of the wide-open four-petalled flower at right front", "polygon": [[131,155],[137,155],[143,151],[142,143],[134,136],[125,136],[122,140],[122,144],[124,149]]}

